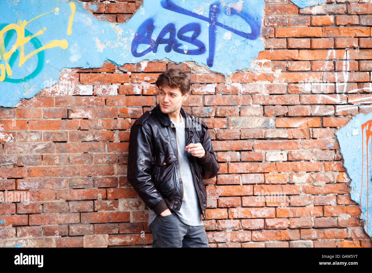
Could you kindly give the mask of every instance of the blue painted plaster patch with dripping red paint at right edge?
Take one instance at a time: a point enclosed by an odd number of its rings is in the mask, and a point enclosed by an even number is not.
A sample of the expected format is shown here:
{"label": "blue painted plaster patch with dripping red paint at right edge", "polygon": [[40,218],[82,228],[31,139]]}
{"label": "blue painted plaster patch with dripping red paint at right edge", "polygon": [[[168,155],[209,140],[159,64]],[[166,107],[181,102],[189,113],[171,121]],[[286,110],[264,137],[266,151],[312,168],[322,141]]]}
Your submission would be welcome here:
{"label": "blue painted plaster patch with dripping red paint at right edge", "polygon": [[[360,205],[364,230],[372,237],[372,113],[358,114],[335,134],[340,143],[344,167],[349,175],[350,196]],[[368,192],[368,194],[367,194]]]}

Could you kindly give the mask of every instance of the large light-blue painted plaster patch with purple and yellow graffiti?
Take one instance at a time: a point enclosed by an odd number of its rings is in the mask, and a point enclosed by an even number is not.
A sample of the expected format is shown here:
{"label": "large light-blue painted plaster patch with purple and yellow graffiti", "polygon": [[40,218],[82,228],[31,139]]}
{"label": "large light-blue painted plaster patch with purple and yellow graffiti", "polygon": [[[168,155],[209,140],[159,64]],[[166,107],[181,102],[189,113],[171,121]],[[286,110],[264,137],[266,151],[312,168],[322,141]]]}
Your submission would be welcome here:
{"label": "large light-blue painted plaster patch with purple and yellow graffiti", "polygon": [[230,75],[249,68],[264,50],[259,39],[264,0],[144,0],[125,23],[99,21],[78,1],[3,0],[1,7],[0,105],[5,107],[53,85],[63,68],[168,58]]}

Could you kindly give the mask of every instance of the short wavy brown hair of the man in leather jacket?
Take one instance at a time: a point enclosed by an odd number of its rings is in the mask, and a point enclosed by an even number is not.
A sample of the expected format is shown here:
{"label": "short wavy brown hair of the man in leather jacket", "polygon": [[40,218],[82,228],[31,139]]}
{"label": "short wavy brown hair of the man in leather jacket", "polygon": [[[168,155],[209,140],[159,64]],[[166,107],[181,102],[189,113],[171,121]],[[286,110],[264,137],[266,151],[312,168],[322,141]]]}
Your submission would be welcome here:
{"label": "short wavy brown hair of the man in leather jacket", "polygon": [[189,75],[178,68],[171,68],[159,75],[155,82],[156,86],[167,85],[170,88],[180,88],[181,94],[185,95],[190,91],[191,80]]}

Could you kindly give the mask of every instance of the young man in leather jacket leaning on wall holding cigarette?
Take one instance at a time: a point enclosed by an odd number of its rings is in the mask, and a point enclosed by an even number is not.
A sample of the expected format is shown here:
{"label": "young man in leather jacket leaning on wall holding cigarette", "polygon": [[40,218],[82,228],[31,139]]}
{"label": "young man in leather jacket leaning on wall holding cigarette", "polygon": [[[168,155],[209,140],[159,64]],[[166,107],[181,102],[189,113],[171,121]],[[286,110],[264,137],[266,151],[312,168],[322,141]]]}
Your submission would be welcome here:
{"label": "young man in leather jacket leaning on wall holding cigarette", "polygon": [[219,170],[208,127],[182,108],[185,72],[168,69],[156,85],[158,104],[131,128],[128,181],[149,208],[153,247],[208,247],[203,179]]}

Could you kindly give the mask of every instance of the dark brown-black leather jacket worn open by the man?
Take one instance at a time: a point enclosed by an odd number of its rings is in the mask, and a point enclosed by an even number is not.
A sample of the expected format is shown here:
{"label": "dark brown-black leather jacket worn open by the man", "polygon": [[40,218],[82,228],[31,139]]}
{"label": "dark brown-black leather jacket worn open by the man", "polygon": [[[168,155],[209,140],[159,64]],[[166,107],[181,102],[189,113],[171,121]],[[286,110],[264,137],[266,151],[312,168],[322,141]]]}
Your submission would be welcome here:
{"label": "dark brown-black leather jacket worn open by the man", "polygon": [[[199,205],[206,220],[206,190],[202,179],[217,175],[219,166],[212,148],[208,127],[200,118],[180,108],[185,121],[186,144],[201,143],[205,150],[202,158],[189,158]],[[179,211],[183,201],[176,128],[159,104],[138,118],[129,136],[128,181],[146,205],[159,215],[165,209]]]}

